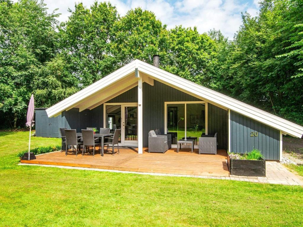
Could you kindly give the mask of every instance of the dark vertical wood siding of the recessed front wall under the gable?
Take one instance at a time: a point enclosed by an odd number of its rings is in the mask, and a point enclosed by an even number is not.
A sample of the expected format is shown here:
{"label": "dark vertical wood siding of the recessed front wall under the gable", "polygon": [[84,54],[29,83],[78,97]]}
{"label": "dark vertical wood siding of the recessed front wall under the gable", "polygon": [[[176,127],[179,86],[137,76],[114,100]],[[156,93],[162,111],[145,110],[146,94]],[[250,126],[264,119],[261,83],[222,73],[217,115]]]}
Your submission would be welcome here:
{"label": "dark vertical wood siding of the recessed front wall under the gable", "polygon": [[[158,81],[154,86],[143,83],[143,146],[148,146],[148,132],[152,129],[160,129],[164,133],[164,102],[201,101]],[[138,102],[138,87],[134,87],[123,94],[107,101],[107,103]],[[227,120],[225,110],[208,104],[208,133],[218,132],[218,148],[226,149]],[[222,120],[222,124],[219,121]],[[225,122],[224,122],[225,120]],[[86,127],[103,127],[103,104],[92,109],[79,112],[78,108],[72,108],[62,112],[60,118],[61,127],[81,129]]]}

